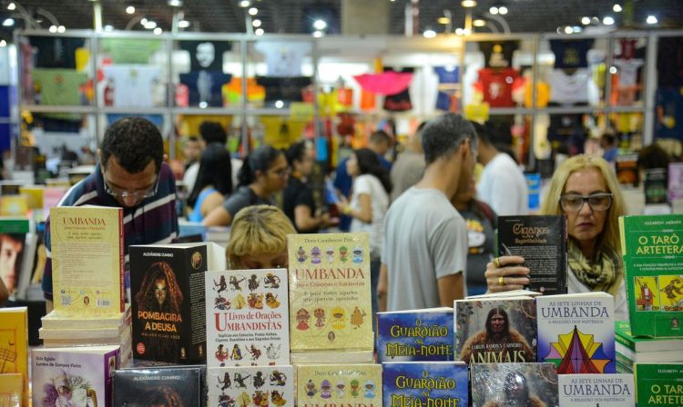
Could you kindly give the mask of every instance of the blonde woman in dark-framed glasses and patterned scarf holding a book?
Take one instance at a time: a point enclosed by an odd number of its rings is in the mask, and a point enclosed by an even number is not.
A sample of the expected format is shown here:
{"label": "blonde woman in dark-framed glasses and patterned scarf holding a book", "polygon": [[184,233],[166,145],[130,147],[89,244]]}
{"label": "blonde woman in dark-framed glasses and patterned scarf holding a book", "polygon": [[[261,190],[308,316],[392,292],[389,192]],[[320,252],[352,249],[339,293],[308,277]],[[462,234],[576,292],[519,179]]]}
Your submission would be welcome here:
{"label": "blonde woman in dark-framed glasses and patterned scarf holding a book", "polygon": [[[617,320],[627,320],[618,224],[619,216],[627,210],[617,176],[607,161],[582,154],[560,164],[541,213],[566,215],[569,293],[610,293]],[[520,256],[501,256],[486,264],[489,292],[524,288],[529,270],[523,263]]]}

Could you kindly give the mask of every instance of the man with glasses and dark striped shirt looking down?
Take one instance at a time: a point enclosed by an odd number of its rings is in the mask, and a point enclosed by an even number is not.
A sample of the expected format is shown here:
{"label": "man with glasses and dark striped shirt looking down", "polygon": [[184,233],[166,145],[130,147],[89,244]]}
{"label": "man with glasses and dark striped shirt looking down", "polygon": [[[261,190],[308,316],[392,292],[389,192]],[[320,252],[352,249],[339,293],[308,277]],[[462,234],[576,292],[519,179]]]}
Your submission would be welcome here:
{"label": "man with glasses and dark striped shirt looking down", "polygon": [[[176,181],[164,160],[157,126],[141,117],[125,117],[109,126],[97,150],[95,172],[71,187],[59,206],[123,208],[126,262],[131,244],[171,243],[178,236]],[[52,310],[50,219],[46,221],[47,260],[43,276],[46,309]]]}

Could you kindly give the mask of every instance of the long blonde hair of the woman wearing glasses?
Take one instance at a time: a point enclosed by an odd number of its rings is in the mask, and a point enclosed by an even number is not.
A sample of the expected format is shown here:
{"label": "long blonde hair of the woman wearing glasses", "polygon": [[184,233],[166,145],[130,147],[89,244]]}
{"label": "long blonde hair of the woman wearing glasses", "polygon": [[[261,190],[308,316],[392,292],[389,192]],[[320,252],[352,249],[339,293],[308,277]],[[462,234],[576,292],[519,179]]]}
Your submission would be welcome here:
{"label": "long blonde hair of the woman wearing glasses", "polygon": [[571,174],[576,171],[585,170],[586,168],[595,168],[602,174],[605,184],[607,184],[607,192],[612,194],[612,206],[607,210],[607,219],[605,220],[605,228],[603,232],[597,236],[597,247],[603,244],[612,249],[616,253],[621,253],[621,243],[619,240],[619,216],[627,214],[626,203],[624,197],[619,189],[617,182],[617,174],[614,169],[601,157],[596,155],[580,154],[571,158],[567,158],[557,168],[553,178],[550,181],[550,187],[545,200],[541,206],[541,214],[563,214],[562,206],[560,205],[560,196],[565,192],[566,181]]}

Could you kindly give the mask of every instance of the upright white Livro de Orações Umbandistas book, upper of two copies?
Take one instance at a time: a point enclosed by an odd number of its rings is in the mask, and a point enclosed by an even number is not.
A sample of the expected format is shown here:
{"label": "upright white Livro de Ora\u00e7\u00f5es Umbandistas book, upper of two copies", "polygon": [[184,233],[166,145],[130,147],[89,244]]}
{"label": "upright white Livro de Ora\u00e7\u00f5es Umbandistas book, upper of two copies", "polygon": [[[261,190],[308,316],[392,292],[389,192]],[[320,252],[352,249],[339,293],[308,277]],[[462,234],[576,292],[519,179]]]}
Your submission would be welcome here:
{"label": "upright white Livro de Ora\u00e7\u00f5es Umbandistas book, upper of two copies", "polygon": [[207,272],[207,366],[290,364],[287,270]]}

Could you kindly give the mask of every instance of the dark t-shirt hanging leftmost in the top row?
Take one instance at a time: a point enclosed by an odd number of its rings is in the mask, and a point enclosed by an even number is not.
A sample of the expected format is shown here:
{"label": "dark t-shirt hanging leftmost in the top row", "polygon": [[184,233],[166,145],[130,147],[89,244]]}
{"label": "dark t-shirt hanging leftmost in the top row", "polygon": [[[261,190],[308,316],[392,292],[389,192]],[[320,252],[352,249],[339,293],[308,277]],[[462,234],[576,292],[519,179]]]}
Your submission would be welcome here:
{"label": "dark t-shirt hanging leftmost in the top row", "polygon": [[74,37],[29,36],[28,42],[37,49],[36,68],[76,69],[76,49],[86,40]]}

